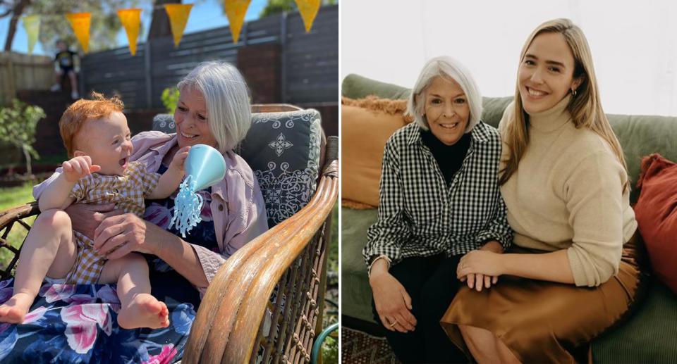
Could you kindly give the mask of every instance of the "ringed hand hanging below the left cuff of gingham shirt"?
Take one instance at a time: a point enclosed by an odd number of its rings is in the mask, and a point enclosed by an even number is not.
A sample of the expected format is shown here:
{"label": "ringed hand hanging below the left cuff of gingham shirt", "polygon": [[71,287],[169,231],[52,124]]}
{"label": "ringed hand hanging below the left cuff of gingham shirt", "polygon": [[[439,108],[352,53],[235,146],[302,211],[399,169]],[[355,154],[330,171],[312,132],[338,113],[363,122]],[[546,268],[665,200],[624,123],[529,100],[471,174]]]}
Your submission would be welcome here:
{"label": "ringed hand hanging below the left cuff of gingham shirt", "polygon": [[[377,262],[380,263],[380,262]],[[385,262],[384,262],[385,263]],[[411,298],[402,284],[387,270],[372,267],[369,284],[374,292],[374,306],[387,330],[413,331],[416,318],[411,313]]]}

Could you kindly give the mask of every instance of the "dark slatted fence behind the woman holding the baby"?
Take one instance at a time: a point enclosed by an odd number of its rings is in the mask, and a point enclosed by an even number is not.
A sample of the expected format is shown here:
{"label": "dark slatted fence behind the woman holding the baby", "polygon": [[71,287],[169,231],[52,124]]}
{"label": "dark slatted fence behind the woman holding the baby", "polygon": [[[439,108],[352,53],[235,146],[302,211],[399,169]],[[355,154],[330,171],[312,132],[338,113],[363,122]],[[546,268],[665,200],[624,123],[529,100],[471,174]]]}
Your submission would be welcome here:
{"label": "dark slatted fence behind the woman holding the baby", "polygon": [[256,71],[280,73],[275,75],[280,84],[274,102],[338,104],[337,5],[320,8],[307,33],[300,14],[294,12],[245,23],[237,44],[225,26],[183,34],[177,48],[171,37],[163,37],[139,43],[135,56],[127,46],[87,54],[81,91],[117,93],[129,110],[162,108],[162,90],[176,85],[197,63],[219,60],[238,65],[238,51],[259,44],[279,44],[279,57],[274,59],[280,64]]}

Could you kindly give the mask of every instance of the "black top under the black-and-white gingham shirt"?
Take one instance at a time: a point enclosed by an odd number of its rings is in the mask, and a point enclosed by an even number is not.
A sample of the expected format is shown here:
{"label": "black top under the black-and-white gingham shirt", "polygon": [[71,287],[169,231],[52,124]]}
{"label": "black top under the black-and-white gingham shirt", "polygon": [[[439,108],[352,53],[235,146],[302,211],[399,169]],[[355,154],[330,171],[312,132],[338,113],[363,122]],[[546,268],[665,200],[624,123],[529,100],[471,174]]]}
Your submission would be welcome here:
{"label": "black top under the black-and-white gingham shirt", "polygon": [[465,154],[468,153],[468,148],[470,148],[470,139],[470,133],[465,133],[461,139],[458,139],[458,142],[446,145],[440,142],[430,130],[421,129],[421,141],[430,149],[432,156],[437,161],[447,187],[451,184],[453,175],[463,165]]}

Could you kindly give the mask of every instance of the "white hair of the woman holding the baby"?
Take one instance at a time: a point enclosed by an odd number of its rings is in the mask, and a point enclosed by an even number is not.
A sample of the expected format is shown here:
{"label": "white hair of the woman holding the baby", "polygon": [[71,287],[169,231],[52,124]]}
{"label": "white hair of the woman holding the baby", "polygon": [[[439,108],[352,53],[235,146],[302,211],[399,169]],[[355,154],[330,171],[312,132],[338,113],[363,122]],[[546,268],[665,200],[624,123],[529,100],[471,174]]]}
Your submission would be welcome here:
{"label": "white hair of the woman holding the baby", "polygon": [[245,139],[252,124],[249,88],[235,66],[226,62],[203,62],[176,85],[181,92],[195,87],[207,102],[209,130],[221,153]]}

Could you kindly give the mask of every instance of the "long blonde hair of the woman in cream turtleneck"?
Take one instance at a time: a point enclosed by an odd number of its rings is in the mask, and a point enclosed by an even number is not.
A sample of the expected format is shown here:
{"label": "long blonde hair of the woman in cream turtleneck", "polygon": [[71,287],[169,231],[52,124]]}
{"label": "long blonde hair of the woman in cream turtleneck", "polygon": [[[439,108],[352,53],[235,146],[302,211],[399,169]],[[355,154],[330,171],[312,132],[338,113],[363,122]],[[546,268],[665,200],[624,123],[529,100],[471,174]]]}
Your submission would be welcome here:
{"label": "long blonde hair of the woman in cream turtleneck", "polygon": [[[571,50],[571,54],[573,54],[573,61],[575,63],[573,78],[580,77],[581,79],[576,89],[576,95],[571,97],[571,101],[566,106],[566,109],[571,113],[573,124],[577,128],[590,128],[590,130],[606,140],[627,173],[628,165],[626,164],[626,158],[623,156],[623,149],[621,149],[621,144],[618,142],[614,130],[611,130],[609,120],[606,119],[604,110],[602,110],[602,103],[599,101],[599,87],[597,87],[597,77],[594,75],[594,68],[592,66],[592,54],[583,30],[580,30],[580,27],[574,25],[569,19],[555,19],[542,23],[527,38],[527,42],[525,42],[520,54],[520,64],[524,61],[527,49],[535,37],[542,33],[562,34]],[[529,133],[527,131],[529,118],[522,106],[519,80],[515,87],[515,111],[513,118],[514,120],[511,120],[511,123],[506,125],[505,142],[508,144],[510,153],[505,168],[501,170],[499,184],[508,182],[513,173],[516,172],[520,159],[529,144]],[[630,182],[626,182],[623,186],[623,192],[629,186]]]}

